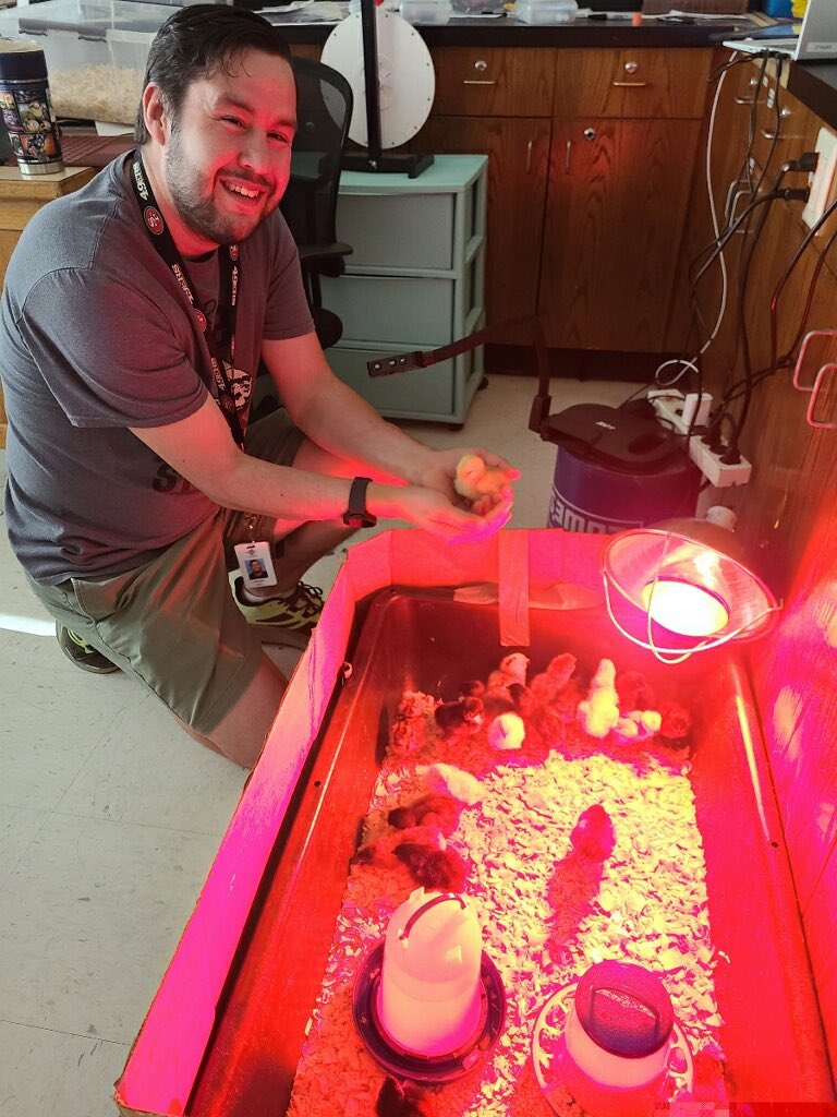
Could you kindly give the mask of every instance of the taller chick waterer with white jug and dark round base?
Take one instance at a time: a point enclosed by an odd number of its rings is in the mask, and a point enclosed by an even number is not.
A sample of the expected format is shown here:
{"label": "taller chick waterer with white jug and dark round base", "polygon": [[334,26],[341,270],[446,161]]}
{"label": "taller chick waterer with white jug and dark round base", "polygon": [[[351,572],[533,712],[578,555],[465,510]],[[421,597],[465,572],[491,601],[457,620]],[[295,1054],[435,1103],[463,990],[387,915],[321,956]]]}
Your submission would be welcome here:
{"label": "taller chick waterer with white jug and dark round base", "polygon": [[502,1031],[506,995],[468,899],[416,888],[364,960],[353,1008],[391,1073],[444,1082],[474,1067]]}

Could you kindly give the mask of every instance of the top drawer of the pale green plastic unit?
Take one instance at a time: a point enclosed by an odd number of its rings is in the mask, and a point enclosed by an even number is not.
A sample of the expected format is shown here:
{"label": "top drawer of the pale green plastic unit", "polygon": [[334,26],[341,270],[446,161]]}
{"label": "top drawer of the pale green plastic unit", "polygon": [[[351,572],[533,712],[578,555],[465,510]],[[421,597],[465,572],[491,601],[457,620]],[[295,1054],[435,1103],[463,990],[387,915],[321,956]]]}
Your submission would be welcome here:
{"label": "top drawer of the pale green plastic unit", "polygon": [[453,194],[340,194],[337,236],[349,267],[453,267]]}

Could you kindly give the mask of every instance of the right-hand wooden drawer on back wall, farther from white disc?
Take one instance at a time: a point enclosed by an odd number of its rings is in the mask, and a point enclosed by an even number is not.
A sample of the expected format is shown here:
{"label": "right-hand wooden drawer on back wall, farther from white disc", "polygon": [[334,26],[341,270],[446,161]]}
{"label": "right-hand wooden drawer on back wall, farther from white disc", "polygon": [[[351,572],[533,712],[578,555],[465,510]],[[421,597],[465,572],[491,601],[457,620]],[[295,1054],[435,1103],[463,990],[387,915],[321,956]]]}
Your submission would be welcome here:
{"label": "right-hand wooden drawer on back wall, farther from white disc", "polygon": [[711,50],[556,50],[555,115],[699,120]]}

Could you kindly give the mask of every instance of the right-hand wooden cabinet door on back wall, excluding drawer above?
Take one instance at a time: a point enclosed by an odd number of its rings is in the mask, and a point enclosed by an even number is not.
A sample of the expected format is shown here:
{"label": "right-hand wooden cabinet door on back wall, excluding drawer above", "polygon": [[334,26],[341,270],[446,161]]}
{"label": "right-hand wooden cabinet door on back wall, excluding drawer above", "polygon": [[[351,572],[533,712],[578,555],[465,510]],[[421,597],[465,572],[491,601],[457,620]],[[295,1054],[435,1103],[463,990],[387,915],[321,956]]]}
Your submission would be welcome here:
{"label": "right-hand wooden cabinet door on back wall, excluding drawer above", "polygon": [[539,309],[547,344],[657,353],[700,122],[556,121]]}

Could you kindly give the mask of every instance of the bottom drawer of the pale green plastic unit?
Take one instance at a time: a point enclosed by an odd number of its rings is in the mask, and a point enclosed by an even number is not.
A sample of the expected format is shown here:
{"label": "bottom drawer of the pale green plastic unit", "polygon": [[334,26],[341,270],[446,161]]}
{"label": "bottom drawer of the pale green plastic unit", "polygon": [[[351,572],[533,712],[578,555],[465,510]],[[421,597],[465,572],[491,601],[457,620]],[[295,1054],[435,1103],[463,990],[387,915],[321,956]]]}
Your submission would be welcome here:
{"label": "bottom drawer of the pale green plastic unit", "polygon": [[[349,349],[336,345],[326,354],[328,363],[345,383],[354,388],[384,416],[401,418],[451,418],[453,414],[454,362],[400,372],[393,376],[371,376],[367,361],[392,356],[395,349]],[[407,351],[408,352],[408,351]]]}

